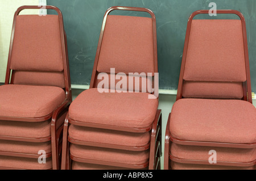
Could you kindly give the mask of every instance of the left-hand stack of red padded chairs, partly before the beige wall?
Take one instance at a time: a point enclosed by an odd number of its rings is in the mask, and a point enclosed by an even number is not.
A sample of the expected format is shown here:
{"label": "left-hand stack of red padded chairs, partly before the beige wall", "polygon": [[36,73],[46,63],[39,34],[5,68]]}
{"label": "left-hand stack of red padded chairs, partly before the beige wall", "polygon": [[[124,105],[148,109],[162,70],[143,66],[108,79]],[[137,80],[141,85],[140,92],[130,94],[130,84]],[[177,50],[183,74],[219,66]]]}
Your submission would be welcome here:
{"label": "left-hand stack of red padded chairs, partly before the beige wall", "polygon": [[57,15],[14,14],[5,85],[0,86],[0,169],[59,169],[72,102],[67,40]]}

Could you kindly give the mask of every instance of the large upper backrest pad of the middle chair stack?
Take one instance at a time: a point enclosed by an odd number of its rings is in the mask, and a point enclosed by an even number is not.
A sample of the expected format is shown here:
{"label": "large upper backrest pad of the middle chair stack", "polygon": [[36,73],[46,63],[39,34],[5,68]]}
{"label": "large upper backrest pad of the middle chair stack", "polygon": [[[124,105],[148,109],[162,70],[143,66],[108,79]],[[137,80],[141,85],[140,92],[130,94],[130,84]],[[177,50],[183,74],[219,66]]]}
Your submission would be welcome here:
{"label": "large upper backrest pad of the middle chair stack", "polygon": [[101,44],[97,71],[110,73],[153,73],[152,19],[109,15]]}

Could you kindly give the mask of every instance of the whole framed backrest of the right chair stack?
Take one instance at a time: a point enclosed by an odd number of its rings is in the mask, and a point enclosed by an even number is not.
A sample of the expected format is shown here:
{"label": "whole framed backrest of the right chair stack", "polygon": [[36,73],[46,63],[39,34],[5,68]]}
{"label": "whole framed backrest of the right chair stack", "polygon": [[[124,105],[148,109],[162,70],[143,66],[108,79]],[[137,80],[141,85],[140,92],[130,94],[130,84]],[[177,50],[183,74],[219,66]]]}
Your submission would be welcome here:
{"label": "whole framed backrest of the right chair stack", "polygon": [[188,21],[177,99],[243,99],[251,94],[245,20],[235,10],[219,10],[238,19]]}

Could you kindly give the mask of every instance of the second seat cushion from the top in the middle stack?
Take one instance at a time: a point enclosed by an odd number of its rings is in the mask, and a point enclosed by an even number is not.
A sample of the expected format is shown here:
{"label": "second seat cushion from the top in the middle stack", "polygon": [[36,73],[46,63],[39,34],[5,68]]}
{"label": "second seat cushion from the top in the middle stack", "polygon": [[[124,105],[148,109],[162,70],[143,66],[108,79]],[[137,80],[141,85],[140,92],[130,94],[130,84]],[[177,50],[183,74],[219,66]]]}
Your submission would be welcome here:
{"label": "second seat cushion from the top in the middle stack", "polygon": [[[151,132],[131,133],[108,129],[70,125],[69,136],[75,140],[123,146],[144,146],[150,142]],[[93,135],[93,136],[92,136]]]}

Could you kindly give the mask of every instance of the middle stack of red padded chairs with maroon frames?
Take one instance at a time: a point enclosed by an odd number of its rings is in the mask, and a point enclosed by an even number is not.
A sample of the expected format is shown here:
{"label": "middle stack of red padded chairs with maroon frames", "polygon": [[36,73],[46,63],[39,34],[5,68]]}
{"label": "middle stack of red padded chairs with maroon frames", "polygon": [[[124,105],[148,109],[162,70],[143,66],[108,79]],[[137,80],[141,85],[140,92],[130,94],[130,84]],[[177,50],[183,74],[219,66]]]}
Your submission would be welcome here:
{"label": "middle stack of red padded chairs with maroon frames", "polygon": [[[113,10],[144,11],[151,18],[109,15]],[[155,23],[152,11],[144,8],[106,11],[90,88],[72,102],[65,120],[61,169],[160,169],[158,99],[148,99],[152,94],[143,91],[142,83],[131,83],[130,92],[126,83],[115,89],[118,79],[129,82],[129,73],[137,72],[140,82],[152,80],[141,73],[158,73]]]}

